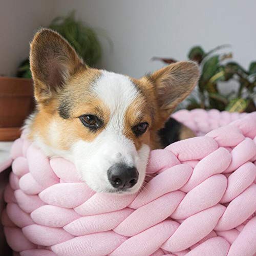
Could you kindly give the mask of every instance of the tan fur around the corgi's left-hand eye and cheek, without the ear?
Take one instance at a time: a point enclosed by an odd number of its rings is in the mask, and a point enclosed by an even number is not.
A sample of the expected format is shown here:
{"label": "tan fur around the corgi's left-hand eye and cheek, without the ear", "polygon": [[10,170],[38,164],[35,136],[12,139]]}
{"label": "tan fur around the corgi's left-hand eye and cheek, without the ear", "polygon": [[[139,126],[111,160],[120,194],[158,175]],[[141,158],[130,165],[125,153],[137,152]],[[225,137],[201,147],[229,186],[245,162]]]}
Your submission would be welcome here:
{"label": "tan fur around the corgi's left-hand eye and cheek, without the ear", "polygon": [[[83,114],[93,114],[101,117],[105,124],[108,123],[110,118],[108,107],[90,92],[92,81],[99,75],[99,70],[86,69],[71,79],[69,86],[63,88],[58,97],[55,95],[55,98],[47,105],[39,106],[39,112],[31,125],[29,138],[33,140],[34,136],[40,134],[47,145],[57,147],[59,150],[68,150],[79,139],[93,141],[104,126],[92,133],[83,126],[78,117]],[[72,101],[69,119],[59,116],[58,106],[61,98],[63,100],[68,98]],[[55,140],[49,134],[49,127],[52,123],[58,127],[58,133],[63,135],[60,138],[56,136]]]}

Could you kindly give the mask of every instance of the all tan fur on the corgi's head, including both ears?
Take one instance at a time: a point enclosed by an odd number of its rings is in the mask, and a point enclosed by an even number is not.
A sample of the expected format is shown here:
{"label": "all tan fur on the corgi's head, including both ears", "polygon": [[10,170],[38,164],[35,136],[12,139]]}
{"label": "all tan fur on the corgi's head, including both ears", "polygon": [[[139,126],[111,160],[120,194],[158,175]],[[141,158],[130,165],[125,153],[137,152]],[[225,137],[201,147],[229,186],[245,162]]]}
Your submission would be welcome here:
{"label": "all tan fur on the corgi's head, including both ears", "polygon": [[[60,150],[68,150],[79,139],[93,141],[108,124],[111,115],[108,107],[91,90],[101,71],[84,65],[65,39],[47,29],[35,35],[30,61],[38,104],[38,112],[30,127],[30,139],[39,135],[44,143]],[[125,113],[123,134],[134,141],[137,150],[142,143],[152,149],[160,147],[157,131],[177,104],[193,90],[198,77],[197,65],[183,61],[150,76],[131,78],[140,94]],[[60,109],[67,118],[60,117]],[[89,131],[78,119],[83,114],[99,116],[104,126],[96,132]],[[150,126],[138,138],[131,128],[139,122],[148,122]],[[58,135],[50,134],[51,125],[58,128]]]}

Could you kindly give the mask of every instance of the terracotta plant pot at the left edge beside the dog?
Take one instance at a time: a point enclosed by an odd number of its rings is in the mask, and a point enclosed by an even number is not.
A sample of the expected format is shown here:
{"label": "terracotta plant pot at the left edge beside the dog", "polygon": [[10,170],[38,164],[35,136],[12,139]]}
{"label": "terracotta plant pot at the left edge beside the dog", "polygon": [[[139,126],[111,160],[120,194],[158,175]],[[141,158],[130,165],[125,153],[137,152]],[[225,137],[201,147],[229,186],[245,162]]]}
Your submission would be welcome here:
{"label": "terracotta plant pot at the left edge beside the dog", "polygon": [[0,77],[0,141],[18,138],[33,108],[32,79]]}

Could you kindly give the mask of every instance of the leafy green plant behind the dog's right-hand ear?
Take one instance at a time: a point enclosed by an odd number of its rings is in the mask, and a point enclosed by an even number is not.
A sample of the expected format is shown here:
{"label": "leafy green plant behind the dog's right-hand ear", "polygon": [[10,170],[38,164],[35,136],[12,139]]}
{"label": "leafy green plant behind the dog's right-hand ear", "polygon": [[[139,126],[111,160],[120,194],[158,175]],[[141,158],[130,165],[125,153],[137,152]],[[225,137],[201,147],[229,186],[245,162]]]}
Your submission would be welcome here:
{"label": "leafy green plant behind the dog's right-hand ear", "polygon": [[[256,111],[256,61],[252,61],[248,70],[242,68],[239,63],[228,61],[232,53],[219,54],[220,49],[228,45],[218,46],[205,52],[202,47],[195,46],[190,49],[188,59],[196,61],[201,68],[201,76],[197,90],[185,101],[186,108],[218,109],[229,112]],[[176,62],[173,58],[154,58],[164,63]],[[239,83],[238,90],[232,88],[229,94],[222,94],[218,83],[236,80]],[[234,84],[234,82],[233,82]],[[184,105],[183,105],[184,107]]]}

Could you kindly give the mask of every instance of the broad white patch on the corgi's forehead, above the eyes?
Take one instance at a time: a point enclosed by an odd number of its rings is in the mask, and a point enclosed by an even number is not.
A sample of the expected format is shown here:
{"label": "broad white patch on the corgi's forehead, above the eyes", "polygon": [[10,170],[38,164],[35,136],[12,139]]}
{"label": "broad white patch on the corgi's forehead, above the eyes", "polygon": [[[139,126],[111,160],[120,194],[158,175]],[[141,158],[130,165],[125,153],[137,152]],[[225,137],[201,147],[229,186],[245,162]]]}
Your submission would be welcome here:
{"label": "broad white patch on the corgi's forehead, above the eyes", "polygon": [[93,92],[110,109],[111,113],[123,113],[139,96],[136,84],[128,77],[108,71],[102,71],[101,76],[93,86]]}

